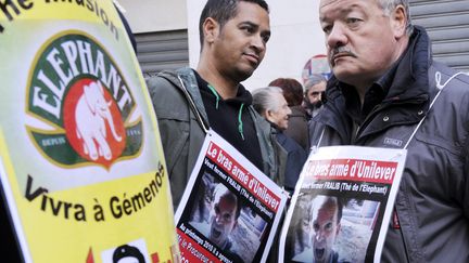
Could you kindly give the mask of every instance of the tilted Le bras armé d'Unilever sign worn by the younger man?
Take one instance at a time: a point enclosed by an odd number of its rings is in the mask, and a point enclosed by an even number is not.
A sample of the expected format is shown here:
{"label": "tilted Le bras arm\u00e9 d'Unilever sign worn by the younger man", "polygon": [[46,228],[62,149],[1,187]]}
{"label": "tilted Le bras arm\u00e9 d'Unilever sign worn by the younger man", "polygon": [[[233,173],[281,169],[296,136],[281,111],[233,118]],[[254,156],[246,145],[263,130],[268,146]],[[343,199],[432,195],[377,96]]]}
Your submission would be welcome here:
{"label": "tilted Le bras arm\u00e9 d'Unilever sign worn by the younger man", "polygon": [[210,131],[175,215],[182,262],[265,262],[287,198]]}

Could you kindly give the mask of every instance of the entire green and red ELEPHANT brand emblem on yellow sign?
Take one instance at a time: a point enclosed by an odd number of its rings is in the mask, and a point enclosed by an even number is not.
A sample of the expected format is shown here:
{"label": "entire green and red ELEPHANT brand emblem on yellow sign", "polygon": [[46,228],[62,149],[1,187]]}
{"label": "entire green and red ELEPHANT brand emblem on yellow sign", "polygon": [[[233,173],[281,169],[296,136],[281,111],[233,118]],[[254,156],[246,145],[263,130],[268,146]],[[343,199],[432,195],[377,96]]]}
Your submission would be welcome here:
{"label": "entire green and red ELEPHANT brand emblem on yellow sign", "polygon": [[115,60],[83,31],[53,36],[30,71],[26,129],[39,152],[69,168],[136,158],[142,149],[141,110]]}

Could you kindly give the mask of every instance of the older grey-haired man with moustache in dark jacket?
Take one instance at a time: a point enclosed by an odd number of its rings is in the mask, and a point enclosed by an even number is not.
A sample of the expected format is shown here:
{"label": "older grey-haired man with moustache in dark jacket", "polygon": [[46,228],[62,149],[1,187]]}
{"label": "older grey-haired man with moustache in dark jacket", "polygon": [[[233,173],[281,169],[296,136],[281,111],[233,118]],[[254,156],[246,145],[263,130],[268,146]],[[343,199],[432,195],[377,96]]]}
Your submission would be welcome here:
{"label": "older grey-haired man with moustache in dark jacket", "polygon": [[313,145],[405,148],[382,262],[469,260],[469,77],[432,58],[407,0],[320,0],[333,75]]}

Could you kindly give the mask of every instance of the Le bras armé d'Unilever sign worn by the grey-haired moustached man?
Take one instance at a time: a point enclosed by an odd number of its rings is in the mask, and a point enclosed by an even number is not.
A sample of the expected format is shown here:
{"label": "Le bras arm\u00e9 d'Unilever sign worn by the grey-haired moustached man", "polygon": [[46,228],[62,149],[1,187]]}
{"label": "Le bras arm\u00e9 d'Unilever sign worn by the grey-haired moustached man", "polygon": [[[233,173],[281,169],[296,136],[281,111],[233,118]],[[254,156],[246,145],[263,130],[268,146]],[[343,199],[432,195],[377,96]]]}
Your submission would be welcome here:
{"label": "Le bras arm\u00e9 d'Unilever sign worn by the grey-haired moustached man", "polygon": [[406,154],[358,146],[313,153],[283,224],[281,262],[380,262]]}

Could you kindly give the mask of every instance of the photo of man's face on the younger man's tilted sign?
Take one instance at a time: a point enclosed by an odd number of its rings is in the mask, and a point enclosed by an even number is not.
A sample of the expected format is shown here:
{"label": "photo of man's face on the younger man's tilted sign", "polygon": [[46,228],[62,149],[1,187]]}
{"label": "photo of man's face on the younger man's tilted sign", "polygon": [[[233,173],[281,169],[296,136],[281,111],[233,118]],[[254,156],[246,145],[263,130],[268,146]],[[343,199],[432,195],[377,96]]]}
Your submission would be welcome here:
{"label": "photo of man's face on the younger man's tilted sign", "polygon": [[198,180],[189,224],[233,262],[253,262],[267,222],[210,169]]}

